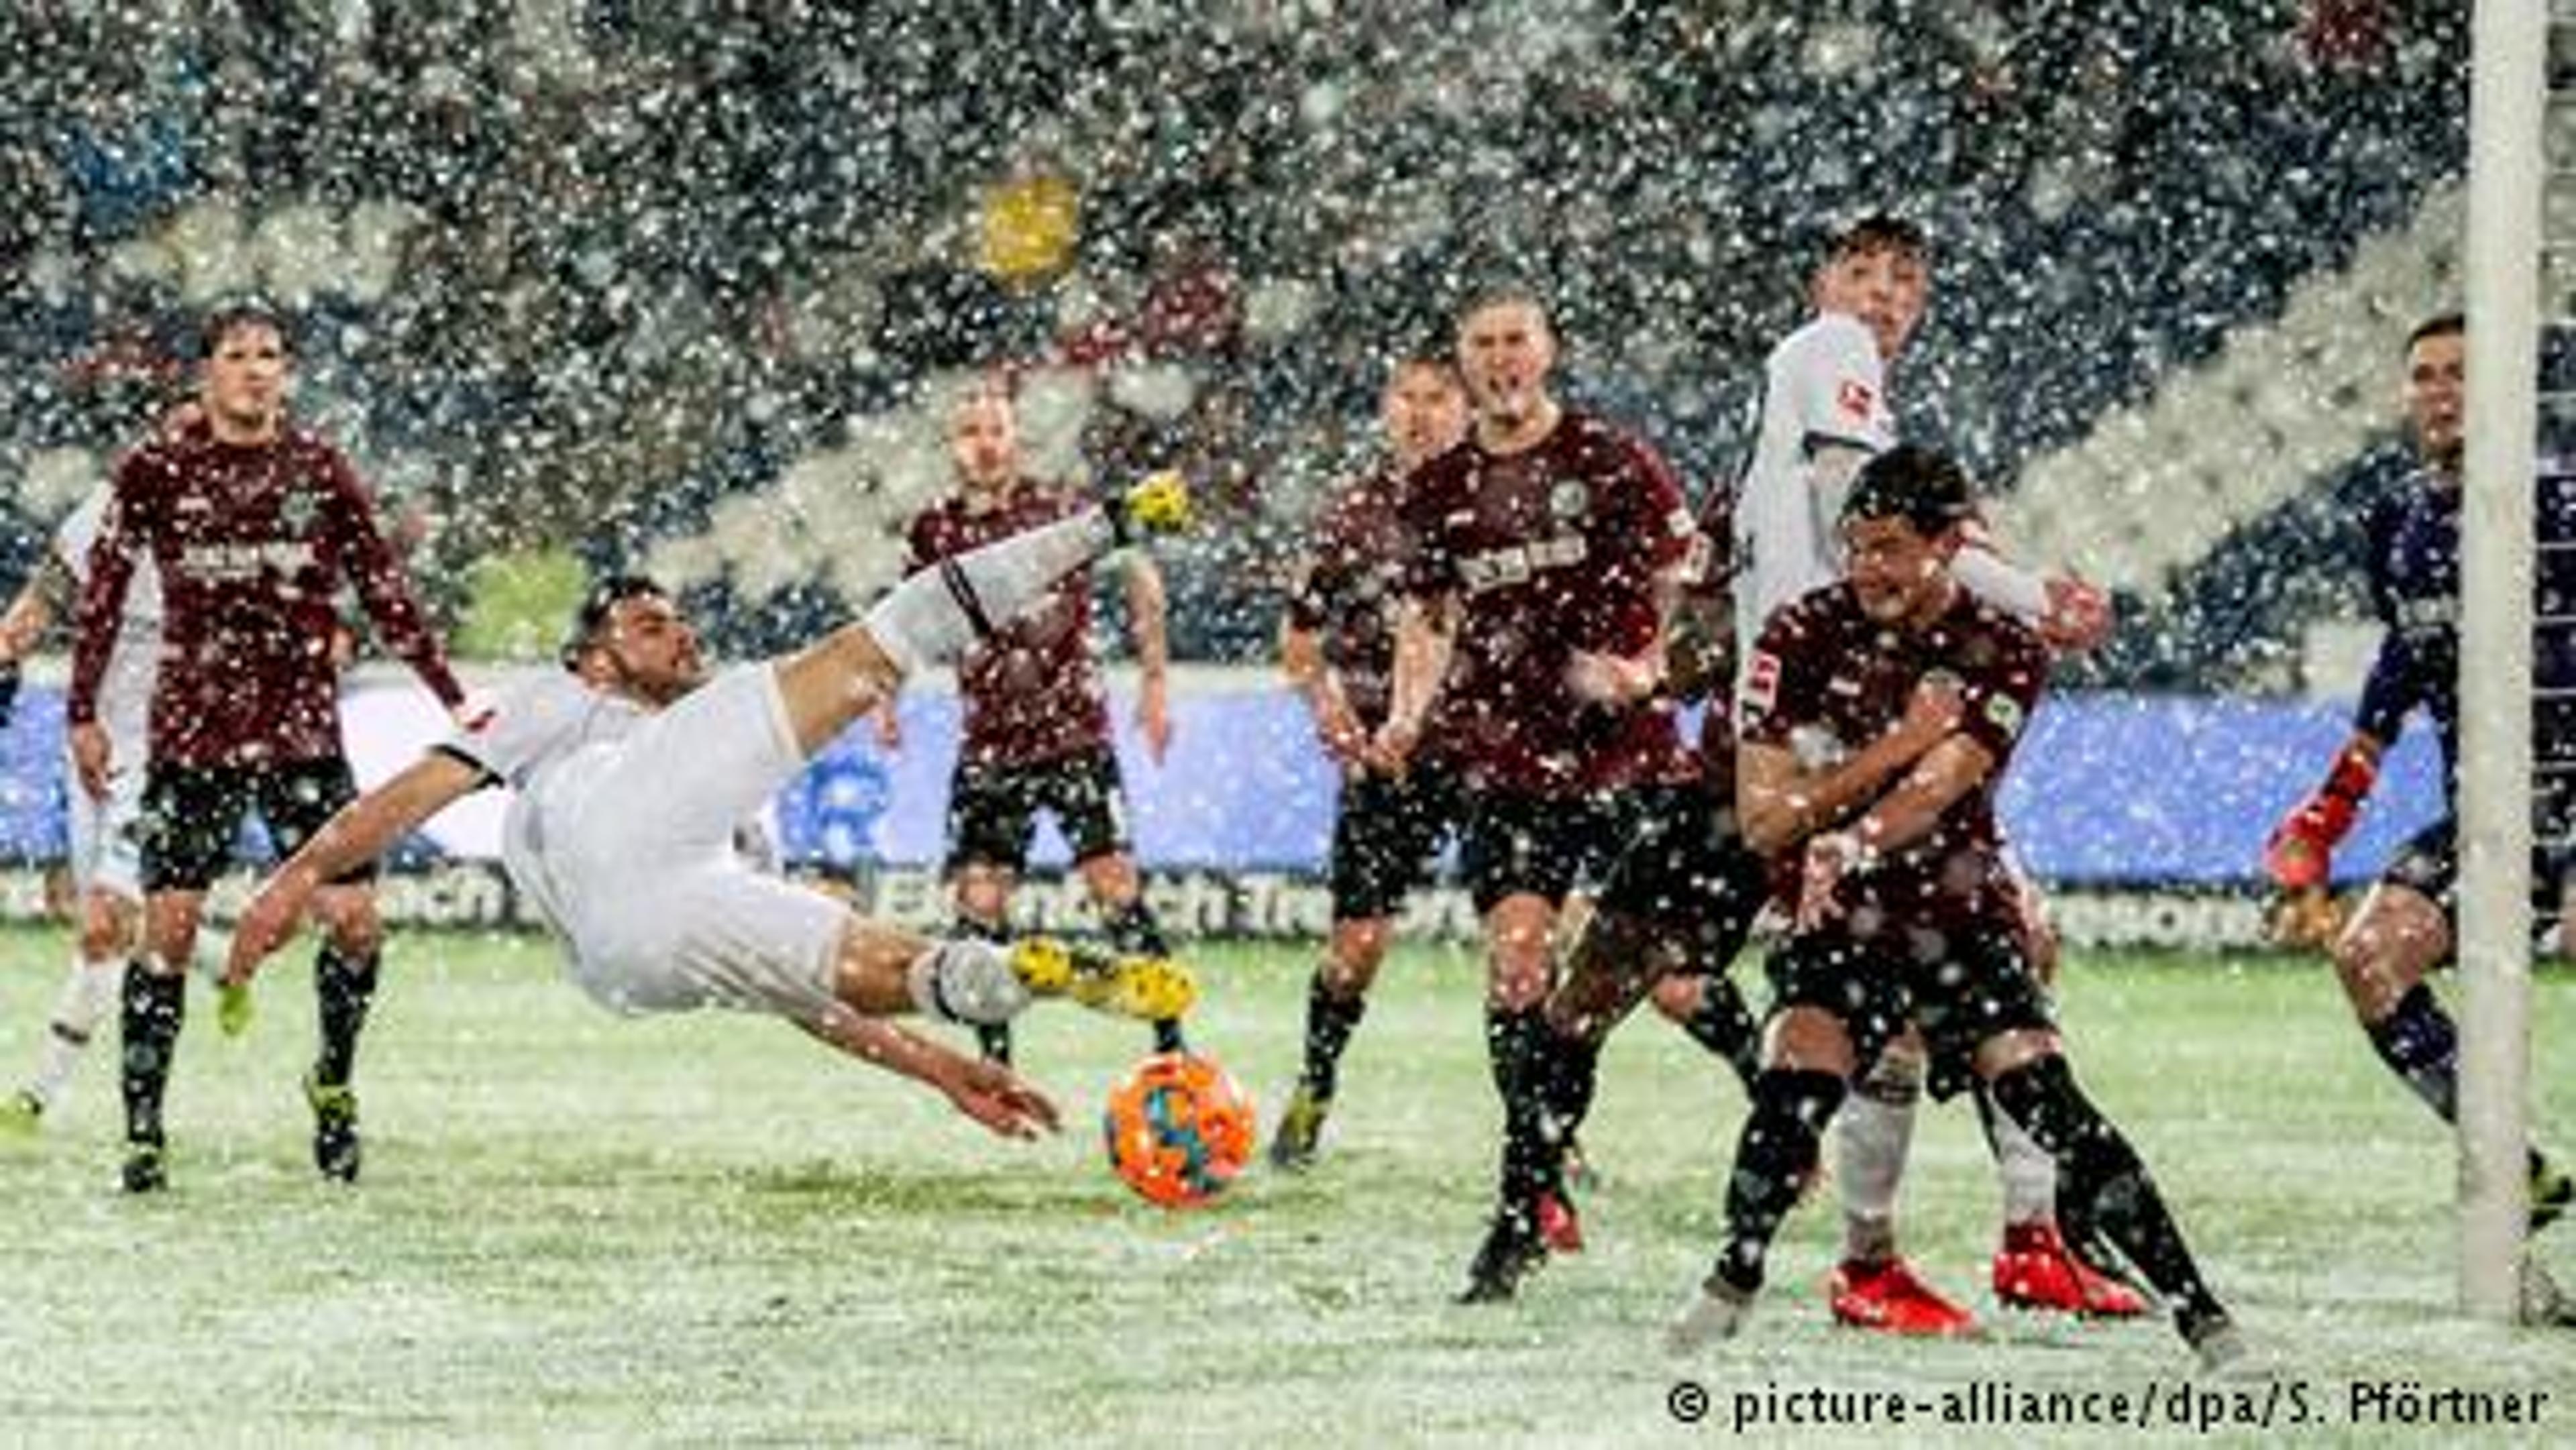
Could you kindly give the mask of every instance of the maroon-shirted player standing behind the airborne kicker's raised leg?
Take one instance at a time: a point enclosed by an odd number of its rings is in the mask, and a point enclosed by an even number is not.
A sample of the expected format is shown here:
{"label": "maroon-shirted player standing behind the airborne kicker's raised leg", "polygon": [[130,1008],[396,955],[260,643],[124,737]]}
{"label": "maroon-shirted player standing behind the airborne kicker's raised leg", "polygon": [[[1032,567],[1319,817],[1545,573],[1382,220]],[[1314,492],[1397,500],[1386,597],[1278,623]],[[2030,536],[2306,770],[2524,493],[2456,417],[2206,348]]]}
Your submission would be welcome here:
{"label": "maroon-shirted player standing behind the airborne kicker's raised leg", "polygon": [[[948,458],[958,489],[912,520],[907,574],[1092,507],[1074,489],[1020,471],[1020,433],[1010,394],[974,386],[948,410]],[[1144,551],[1126,567],[1128,628],[1144,670],[1136,731],[1162,762],[1172,744],[1170,652],[1162,572]],[[1007,940],[1010,889],[1028,868],[1038,811],[1051,811],[1074,852],[1074,871],[1100,901],[1118,950],[1170,956],[1128,842],[1126,786],[1110,752],[1110,706],[1092,657],[1092,577],[1077,569],[1048,603],[1002,623],[958,662],[966,731],[948,786],[948,871],[958,930]],[[878,713],[894,742],[894,711]],[[1010,1061],[1010,1025],[976,1030],[984,1056]],[[1154,1022],[1154,1048],[1182,1046],[1180,1022]]]}

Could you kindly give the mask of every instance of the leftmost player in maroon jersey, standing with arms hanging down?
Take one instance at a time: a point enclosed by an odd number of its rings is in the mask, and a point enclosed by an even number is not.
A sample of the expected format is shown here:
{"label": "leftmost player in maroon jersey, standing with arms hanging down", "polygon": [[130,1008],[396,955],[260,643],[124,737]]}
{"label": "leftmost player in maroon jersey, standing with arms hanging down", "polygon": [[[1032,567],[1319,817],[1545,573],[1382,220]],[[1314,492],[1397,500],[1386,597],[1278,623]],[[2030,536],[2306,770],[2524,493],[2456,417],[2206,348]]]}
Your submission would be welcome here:
{"label": "leftmost player in maroon jersey, standing with arms hanging down", "polygon": [[[348,458],[286,412],[286,322],[265,304],[214,309],[201,330],[201,420],[116,466],[111,523],[80,595],[67,719],[80,783],[106,791],[108,731],[98,688],[134,572],[162,579],[162,662],[144,775],[144,956],[124,986],[124,1185],[167,1185],[162,1095],[185,1010],[185,966],[214,876],[258,811],[294,852],[355,798],[340,744],[332,600],[353,585],[386,649],[451,711],[464,690],[376,528]],[[314,1167],[358,1177],[350,1074],[376,994],[384,927],[374,865],[314,894],[325,945],[314,963],[322,1048],[304,1097]]]}

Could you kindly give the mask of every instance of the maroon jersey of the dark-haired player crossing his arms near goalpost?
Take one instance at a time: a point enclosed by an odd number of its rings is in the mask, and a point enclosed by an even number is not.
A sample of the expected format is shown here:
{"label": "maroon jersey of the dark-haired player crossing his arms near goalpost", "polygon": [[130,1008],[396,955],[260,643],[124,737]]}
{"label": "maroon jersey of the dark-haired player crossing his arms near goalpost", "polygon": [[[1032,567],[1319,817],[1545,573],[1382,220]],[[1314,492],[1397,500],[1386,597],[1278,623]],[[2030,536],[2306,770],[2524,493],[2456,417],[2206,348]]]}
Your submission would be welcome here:
{"label": "maroon jersey of the dark-haired player crossing his arms near goalpost", "polygon": [[1896,631],[1862,613],[1852,585],[1832,585],[1775,613],[1744,670],[1744,744],[1793,749],[1801,762],[1888,734],[1932,675],[1960,690],[1960,734],[1994,755],[1994,773],[1953,801],[1932,834],[1844,876],[1844,912],[1826,930],[1873,919],[1929,930],[2020,922],[1994,796],[2048,683],[2048,646],[1965,590],[1929,628]]}

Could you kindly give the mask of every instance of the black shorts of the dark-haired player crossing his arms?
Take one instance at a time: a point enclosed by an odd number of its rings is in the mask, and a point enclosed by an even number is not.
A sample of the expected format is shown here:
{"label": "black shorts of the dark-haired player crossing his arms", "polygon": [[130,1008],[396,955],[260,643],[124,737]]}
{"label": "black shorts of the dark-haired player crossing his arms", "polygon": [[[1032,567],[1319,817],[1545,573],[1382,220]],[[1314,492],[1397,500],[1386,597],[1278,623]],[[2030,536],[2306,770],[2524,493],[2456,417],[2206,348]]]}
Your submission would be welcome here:
{"label": "black shorts of the dark-haired player crossing his arms", "polygon": [[1852,1079],[1868,1077],[1906,1022],[1924,1033],[1935,1097],[1973,1082],[1976,1048],[1986,1038],[2056,1030],[2048,992],[2022,961],[2020,932],[2002,925],[1960,932],[1935,958],[1906,950],[1906,932],[1883,940],[1878,948],[1842,932],[1806,932],[1770,956],[1772,1012],[1816,1007],[1839,1017],[1852,1035]]}

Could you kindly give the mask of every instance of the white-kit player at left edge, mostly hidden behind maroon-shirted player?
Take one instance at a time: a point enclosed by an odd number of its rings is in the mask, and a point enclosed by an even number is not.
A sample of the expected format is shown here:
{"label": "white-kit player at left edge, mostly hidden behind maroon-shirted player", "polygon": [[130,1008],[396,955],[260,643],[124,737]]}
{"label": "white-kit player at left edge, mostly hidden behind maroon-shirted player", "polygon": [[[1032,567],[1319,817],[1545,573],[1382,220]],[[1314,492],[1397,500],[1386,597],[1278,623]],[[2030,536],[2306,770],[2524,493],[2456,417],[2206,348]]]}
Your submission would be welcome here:
{"label": "white-kit player at left edge, mostly hidden behind maroon-shirted player", "polygon": [[[90,546],[113,489],[98,484],[54,531],[36,574],[0,616],[0,664],[15,670],[59,618],[80,603],[90,579]],[[152,675],[160,670],[160,577],[144,569],[126,590],[116,621],[116,649],[98,688],[98,721],[113,742],[116,767],[106,796],[90,796],[64,752],[62,778],[72,824],[72,889],[80,899],[80,937],[62,997],[46,1017],[36,1071],[5,1102],[0,1131],[28,1133],[62,1097],[98,1020],[118,999],[126,956],[142,922],[142,847],[134,827],[144,804],[144,747],[152,716]]]}

